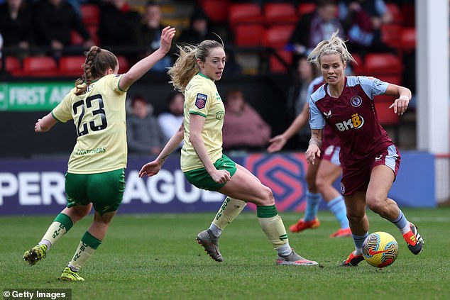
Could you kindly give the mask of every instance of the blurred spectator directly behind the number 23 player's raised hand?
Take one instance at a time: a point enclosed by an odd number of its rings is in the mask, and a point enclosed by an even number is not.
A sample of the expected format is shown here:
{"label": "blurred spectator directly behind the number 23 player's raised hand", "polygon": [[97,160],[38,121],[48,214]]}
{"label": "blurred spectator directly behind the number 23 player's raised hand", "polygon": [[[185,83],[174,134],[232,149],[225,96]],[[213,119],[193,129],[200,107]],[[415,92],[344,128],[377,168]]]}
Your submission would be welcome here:
{"label": "blurred spectator directly behind the number 23 player's raised hand", "polygon": [[[144,11],[141,26],[136,28],[136,43],[146,48],[146,51],[141,54],[145,57],[160,47],[160,35],[164,26],[161,24],[161,7],[155,1],[148,1],[146,10]],[[167,67],[172,65],[170,55],[165,56],[158,61],[150,72],[165,72]],[[171,137],[172,135],[170,135]]]}

